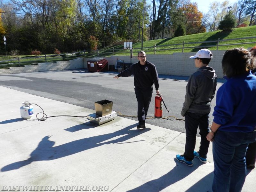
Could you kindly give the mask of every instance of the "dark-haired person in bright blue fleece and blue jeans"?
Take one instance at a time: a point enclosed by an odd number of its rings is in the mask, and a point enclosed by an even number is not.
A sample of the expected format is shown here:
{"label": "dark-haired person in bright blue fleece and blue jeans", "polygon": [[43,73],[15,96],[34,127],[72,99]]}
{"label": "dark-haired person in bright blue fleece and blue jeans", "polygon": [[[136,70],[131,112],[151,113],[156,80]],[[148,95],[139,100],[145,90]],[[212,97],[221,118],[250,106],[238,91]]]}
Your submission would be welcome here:
{"label": "dark-haired person in bright blue fleece and blue jeans", "polygon": [[241,191],[244,185],[246,148],[256,140],[256,76],[250,71],[254,64],[244,48],[230,49],[222,58],[227,82],[217,91],[206,136],[212,141],[214,192]]}

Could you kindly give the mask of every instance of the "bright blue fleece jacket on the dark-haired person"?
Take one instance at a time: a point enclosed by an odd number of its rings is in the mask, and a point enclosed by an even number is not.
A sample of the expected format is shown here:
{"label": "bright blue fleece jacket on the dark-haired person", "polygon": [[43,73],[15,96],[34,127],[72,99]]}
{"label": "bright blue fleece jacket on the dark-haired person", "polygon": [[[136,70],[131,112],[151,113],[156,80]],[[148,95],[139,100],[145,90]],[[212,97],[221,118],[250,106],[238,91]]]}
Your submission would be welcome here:
{"label": "bright blue fleece jacket on the dark-haired person", "polygon": [[216,95],[213,121],[218,130],[252,132],[256,126],[256,76],[248,74],[227,79]]}

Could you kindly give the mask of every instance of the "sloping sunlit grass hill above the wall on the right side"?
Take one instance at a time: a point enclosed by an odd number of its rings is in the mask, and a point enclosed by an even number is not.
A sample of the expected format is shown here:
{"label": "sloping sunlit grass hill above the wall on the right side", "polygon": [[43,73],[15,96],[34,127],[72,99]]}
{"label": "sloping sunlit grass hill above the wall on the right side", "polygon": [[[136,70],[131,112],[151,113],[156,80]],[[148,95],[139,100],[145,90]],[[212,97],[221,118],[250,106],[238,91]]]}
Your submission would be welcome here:
{"label": "sloping sunlit grass hill above the wall on the right side", "polygon": [[[174,37],[174,38],[144,41],[143,51],[147,52],[147,54],[154,54],[154,46],[156,45],[156,54],[170,54],[173,52],[182,52],[183,41],[185,42],[184,52],[196,52],[202,48],[217,50],[216,46],[214,47],[211,46],[211,45],[217,45],[217,42],[208,42],[208,43],[202,43],[202,42],[217,41],[218,38],[220,38],[220,40],[228,40],[223,42],[220,41],[218,50],[227,50],[234,47],[244,47],[247,49],[249,47],[253,47],[256,45],[255,31],[256,31],[256,26],[249,26],[249,27],[242,27],[242,28],[234,28],[230,31],[219,30],[219,31],[199,33],[199,34],[180,36],[180,37]],[[254,37],[254,38],[236,40],[237,38],[243,38],[243,37]],[[192,42],[196,42],[196,43],[192,43]],[[189,43],[189,44],[186,44],[186,43]],[[237,43],[239,44],[229,45],[229,44],[237,44]],[[249,43],[249,44],[245,44],[245,43]],[[181,44],[181,45],[177,45],[177,44]],[[118,48],[123,49],[123,46],[124,45],[115,46],[115,54],[116,54],[116,50]],[[202,47],[193,48],[194,46],[202,46]],[[134,52],[137,52],[137,50],[140,51],[141,42],[134,43],[132,45],[132,48]]]}

